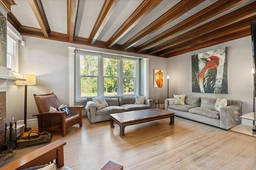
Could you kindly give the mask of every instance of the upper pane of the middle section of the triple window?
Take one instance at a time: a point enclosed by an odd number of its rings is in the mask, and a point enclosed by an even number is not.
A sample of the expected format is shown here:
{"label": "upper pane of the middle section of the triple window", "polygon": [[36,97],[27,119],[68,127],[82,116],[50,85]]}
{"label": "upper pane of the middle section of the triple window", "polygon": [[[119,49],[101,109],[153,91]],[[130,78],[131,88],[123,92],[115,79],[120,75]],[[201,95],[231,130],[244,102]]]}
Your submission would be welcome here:
{"label": "upper pane of the middle section of the triple window", "polygon": [[117,77],[117,63],[116,59],[103,58],[103,75]]}

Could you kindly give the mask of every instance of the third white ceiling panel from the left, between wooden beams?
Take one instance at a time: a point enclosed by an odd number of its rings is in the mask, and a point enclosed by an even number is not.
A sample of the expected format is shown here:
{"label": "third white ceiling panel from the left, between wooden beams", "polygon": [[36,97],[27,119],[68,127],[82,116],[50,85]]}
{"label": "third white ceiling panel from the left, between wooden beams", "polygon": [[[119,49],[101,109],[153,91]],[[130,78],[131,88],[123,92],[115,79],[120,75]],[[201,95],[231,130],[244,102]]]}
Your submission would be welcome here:
{"label": "third white ceiling panel from the left, between wooden beams", "polygon": [[88,38],[104,0],[80,0],[75,35]]}

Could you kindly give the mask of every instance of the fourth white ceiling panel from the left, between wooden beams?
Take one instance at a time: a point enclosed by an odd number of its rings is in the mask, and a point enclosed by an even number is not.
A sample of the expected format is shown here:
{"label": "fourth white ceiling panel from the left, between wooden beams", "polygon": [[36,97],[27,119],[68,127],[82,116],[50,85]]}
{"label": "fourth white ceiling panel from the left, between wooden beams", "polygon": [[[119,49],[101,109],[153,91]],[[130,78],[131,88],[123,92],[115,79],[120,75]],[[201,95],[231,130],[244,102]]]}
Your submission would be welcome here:
{"label": "fourth white ceiling panel from the left, between wooden beams", "polygon": [[117,31],[122,23],[134,12],[142,0],[120,0],[110,19],[106,22],[101,31],[98,40],[108,41],[109,38]]}

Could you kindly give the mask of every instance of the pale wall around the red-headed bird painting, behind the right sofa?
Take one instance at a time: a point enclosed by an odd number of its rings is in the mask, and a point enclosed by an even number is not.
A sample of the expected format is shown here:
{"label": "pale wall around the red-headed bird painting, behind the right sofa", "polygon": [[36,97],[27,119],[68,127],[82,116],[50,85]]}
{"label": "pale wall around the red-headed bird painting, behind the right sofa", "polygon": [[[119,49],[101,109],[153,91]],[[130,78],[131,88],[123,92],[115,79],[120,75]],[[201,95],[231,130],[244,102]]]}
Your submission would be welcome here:
{"label": "pale wall around the red-headed bird painting, behind the right sofa", "polygon": [[[228,94],[194,93],[191,87],[191,55],[228,47]],[[169,96],[186,94],[209,98],[227,98],[242,101],[243,114],[252,111],[253,77],[251,37],[210,46],[194,52],[168,58],[170,75]]]}

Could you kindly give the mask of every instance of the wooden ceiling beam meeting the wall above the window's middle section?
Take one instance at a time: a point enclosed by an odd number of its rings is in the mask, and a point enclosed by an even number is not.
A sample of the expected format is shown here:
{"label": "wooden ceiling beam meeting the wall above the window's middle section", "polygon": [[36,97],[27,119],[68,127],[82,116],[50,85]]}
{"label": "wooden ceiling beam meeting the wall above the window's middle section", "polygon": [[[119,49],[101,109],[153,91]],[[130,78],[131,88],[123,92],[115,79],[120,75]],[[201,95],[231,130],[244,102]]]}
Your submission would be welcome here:
{"label": "wooden ceiling beam meeting the wall above the window's middle section", "polygon": [[129,32],[137,23],[148,13],[150,13],[162,0],[143,0],[143,2],[136,8],[136,10],[123,22],[119,29],[110,37],[107,46],[113,46],[120,40],[127,32]]}

